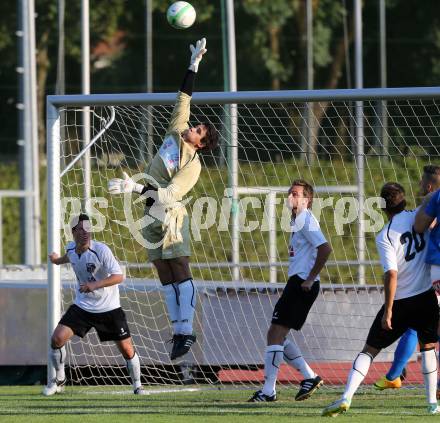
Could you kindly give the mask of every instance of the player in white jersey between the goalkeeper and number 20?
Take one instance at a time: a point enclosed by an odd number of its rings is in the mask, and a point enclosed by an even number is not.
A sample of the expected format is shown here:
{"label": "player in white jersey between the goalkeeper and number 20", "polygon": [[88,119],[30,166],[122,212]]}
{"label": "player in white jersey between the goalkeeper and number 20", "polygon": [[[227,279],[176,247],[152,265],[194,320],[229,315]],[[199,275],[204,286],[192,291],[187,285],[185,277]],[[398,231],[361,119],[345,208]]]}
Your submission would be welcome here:
{"label": "player in white jersey between the goalkeeper and number 20", "polygon": [[312,186],[300,179],[293,181],[287,198],[288,206],[292,209],[289,280],[275,305],[267,333],[265,382],[249,402],[276,401],[275,385],[283,360],[304,377],[295,396],[296,401],[309,398],[323,384],[322,379],[304,360],[295,342],[286,339],[290,329],[300,330],[304,325],[319,293],[319,272],[331,253],[330,245],[310,211],[312,202]]}

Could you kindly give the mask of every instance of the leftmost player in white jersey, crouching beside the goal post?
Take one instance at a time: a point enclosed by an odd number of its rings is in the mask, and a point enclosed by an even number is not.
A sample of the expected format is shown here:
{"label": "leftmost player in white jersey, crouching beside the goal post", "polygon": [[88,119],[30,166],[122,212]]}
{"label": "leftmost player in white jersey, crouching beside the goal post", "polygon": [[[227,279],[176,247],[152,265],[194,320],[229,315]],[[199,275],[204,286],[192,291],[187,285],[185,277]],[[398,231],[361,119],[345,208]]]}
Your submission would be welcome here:
{"label": "leftmost player in white jersey, crouching beside the goal post", "polygon": [[76,216],[71,227],[74,242],[67,245],[64,256],[60,257],[57,253],[49,255],[53,264],[72,265],[78,285],[74,304],[68,308],[52,334],[51,361],[56,377],[48,381],[43,394],[53,395],[64,390],[65,344],[73,335],[82,338],[94,327],[101,342],[115,341],[126,360],[134,393],[142,395],[139,356],[119,300],[118,284],[124,279],[119,263],[107,245],[91,239],[87,215]]}

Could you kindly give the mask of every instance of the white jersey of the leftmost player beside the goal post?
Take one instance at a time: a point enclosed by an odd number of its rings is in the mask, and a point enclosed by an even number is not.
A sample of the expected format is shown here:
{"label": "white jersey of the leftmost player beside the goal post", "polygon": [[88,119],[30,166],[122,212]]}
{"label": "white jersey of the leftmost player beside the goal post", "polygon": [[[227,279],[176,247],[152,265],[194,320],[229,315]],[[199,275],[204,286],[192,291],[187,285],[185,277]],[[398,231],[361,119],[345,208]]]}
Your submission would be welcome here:
{"label": "white jersey of the leftmost player beside the goal post", "polygon": [[69,242],[66,254],[78,281],[75,304],[91,313],[103,313],[121,306],[118,285],[106,286],[93,292],[79,292],[84,282],[94,282],[110,275],[122,275],[121,267],[110,248],[102,242],[90,241],[90,247],[82,254],[75,251],[75,243]]}

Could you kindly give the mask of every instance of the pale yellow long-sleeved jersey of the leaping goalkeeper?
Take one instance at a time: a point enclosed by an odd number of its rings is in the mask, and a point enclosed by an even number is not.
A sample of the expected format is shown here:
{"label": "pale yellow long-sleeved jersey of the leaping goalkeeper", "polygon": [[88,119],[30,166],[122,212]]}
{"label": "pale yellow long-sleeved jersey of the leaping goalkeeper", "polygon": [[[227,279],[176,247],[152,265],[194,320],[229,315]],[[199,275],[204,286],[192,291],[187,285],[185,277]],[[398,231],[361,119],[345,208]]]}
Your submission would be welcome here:
{"label": "pale yellow long-sleeved jersey of the leaping goalkeeper", "polygon": [[147,169],[159,184],[158,200],[164,206],[181,201],[200,176],[197,151],[181,135],[189,128],[190,102],[191,97],[179,91],[163,144]]}

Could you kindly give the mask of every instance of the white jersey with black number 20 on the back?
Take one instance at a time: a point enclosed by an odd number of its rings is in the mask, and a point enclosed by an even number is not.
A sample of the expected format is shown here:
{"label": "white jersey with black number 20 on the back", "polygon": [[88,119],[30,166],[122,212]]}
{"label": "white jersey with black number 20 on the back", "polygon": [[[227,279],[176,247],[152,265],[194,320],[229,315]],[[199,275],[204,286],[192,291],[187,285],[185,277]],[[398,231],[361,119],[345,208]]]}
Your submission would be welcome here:
{"label": "white jersey with black number 20 on the back", "polygon": [[425,263],[428,231],[414,230],[417,210],[404,210],[385,225],[376,237],[384,272],[397,271],[395,300],[413,297],[431,288],[429,266]]}

